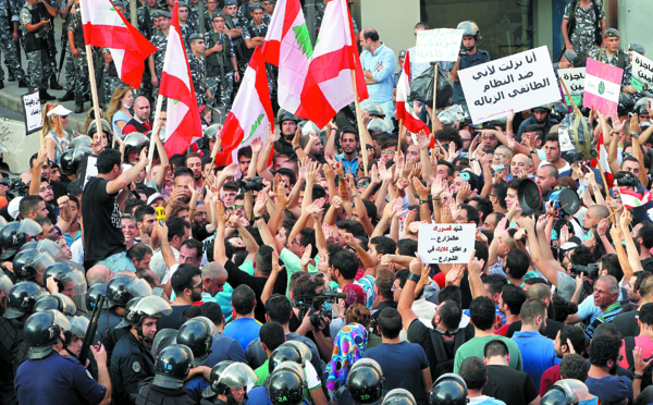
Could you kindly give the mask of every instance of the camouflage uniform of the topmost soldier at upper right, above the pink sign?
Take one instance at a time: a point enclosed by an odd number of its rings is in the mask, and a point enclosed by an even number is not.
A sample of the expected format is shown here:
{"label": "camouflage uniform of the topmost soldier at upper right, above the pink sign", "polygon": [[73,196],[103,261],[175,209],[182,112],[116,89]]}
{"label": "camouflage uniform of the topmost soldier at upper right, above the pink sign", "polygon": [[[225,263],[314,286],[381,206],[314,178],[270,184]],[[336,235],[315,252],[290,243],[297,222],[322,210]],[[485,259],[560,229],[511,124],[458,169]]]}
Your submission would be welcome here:
{"label": "camouflage uniform of the topmost soldier at upper right, above the pink sign", "polygon": [[[594,4],[599,9],[599,15],[594,12]],[[588,10],[579,3],[576,8],[576,13],[574,12],[574,2],[570,2],[565,8],[563,19],[570,21],[572,15],[575,16],[576,27],[574,28],[574,33],[571,33],[569,41],[574,45],[574,50],[579,58],[587,57],[597,47],[594,33],[596,24],[605,20],[603,2],[592,0],[592,4],[590,4]]]}

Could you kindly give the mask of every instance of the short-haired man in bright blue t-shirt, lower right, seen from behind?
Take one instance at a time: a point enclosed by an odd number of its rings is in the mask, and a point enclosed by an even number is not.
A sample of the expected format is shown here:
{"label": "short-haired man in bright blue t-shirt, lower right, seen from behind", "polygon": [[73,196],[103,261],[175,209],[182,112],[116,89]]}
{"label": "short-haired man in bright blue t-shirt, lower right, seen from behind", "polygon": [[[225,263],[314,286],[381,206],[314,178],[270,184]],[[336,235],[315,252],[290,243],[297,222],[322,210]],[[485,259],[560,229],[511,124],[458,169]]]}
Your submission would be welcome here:
{"label": "short-haired man in bright blue t-shirt, lower right, seen from behind", "polygon": [[523,371],[540,390],[542,373],[560,363],[553,341],[542,335],[546,328],[546,307],[537,299],[529,299],[521,306],[521,331],[515,332],[513,341],[519,346],[523,360]]}

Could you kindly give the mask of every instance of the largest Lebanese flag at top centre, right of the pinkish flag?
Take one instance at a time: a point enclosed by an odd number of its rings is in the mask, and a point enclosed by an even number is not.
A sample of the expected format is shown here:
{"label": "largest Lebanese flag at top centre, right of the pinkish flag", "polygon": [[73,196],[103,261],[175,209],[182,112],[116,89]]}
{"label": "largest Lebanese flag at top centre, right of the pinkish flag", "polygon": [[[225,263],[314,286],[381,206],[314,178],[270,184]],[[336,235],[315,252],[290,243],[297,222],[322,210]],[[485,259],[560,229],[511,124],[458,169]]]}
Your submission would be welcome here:
{"label": "largest Lebanese flag at top centre, right of the pinkish flag", "polygon": [[329,1],[322,21],[296,113],[318,127],[326,126],[342,108],[354,101],[352,72],[356,75],[358,101],[369,98],[347,0]]}

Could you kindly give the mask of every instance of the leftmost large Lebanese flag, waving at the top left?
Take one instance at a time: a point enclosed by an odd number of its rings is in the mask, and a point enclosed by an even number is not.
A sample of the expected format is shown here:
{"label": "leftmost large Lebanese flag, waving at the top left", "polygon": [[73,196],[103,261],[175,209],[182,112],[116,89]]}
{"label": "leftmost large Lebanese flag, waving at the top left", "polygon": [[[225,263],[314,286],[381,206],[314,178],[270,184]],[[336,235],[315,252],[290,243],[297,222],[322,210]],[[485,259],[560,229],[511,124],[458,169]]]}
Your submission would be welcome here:
{"label": "leftmost large Lebanese flag, waving at the top left", "polygon": [[110,0],[79,0],[84,42],[109,48],[120,79],[138,89],[145,60],[157,51]]}

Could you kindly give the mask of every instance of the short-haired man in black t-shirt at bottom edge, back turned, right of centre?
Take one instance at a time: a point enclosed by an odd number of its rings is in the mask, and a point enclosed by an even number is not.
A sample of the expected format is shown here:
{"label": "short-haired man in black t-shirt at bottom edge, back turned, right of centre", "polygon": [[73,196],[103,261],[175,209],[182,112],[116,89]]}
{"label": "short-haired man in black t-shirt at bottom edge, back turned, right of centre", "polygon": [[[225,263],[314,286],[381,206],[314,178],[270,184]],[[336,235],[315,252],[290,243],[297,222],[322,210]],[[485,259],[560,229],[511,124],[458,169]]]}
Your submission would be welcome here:
{"label": "short-haired man in black t-shirt at bottom edge, back turned, right of centre", "polygon": [[490,341],[483,349],[483,361],[488,367],[488,383],[483,394],[495,397],[506,405],[535,405],[540,395],[528,373],[508,366],[510,354],[502,341]]}

